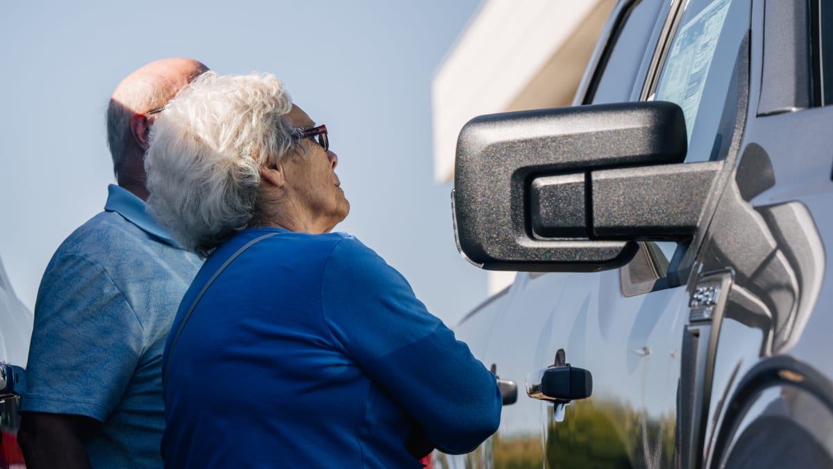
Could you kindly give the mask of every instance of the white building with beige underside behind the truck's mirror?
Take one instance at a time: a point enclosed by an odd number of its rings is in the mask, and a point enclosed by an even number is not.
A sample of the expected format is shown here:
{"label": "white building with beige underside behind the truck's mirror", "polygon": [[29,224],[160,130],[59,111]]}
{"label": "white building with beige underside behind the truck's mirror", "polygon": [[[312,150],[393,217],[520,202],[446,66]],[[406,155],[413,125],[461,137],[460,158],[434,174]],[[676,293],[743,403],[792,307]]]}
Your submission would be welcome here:
{"label": "white building with beige underside behind the truck's mirror", "polygon": [[[432,88],[434,178],[454,179],[456,139],[481,114],[568,106],[615,0],[484,0]],[[490,272],[489,292],[513,272]]]}

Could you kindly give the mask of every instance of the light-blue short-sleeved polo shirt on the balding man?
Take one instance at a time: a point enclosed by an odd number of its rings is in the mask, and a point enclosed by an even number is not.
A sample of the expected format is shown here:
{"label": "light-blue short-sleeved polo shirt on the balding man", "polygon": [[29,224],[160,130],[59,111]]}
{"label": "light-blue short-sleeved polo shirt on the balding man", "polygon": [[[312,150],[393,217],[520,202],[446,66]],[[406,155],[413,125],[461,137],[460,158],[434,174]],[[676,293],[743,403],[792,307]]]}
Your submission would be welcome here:
{"label": "light-blue short-sleeved polo shirt on the balding man", "polygon": [[135,195],[110,185],[37,292],[21,411],[90,416],[93,467],[161,467],[162,349],[202,261],[177,248]]}

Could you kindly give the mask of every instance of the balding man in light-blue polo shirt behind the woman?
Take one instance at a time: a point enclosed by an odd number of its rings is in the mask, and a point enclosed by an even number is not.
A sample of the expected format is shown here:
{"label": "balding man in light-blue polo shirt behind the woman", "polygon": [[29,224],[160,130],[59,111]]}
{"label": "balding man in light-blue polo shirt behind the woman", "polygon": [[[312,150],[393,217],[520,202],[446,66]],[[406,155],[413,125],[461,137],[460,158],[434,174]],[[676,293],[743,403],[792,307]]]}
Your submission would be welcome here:
{"label": "balding man in light-blue polo shirt behind the woman", "polygon": [[118,185],[57,249],[37,291],[18,434],[30,469],[162,467],[162,348],[201,262],[145,212],[143,158],[157,112],[206,70],[159,60],[112,93]]}

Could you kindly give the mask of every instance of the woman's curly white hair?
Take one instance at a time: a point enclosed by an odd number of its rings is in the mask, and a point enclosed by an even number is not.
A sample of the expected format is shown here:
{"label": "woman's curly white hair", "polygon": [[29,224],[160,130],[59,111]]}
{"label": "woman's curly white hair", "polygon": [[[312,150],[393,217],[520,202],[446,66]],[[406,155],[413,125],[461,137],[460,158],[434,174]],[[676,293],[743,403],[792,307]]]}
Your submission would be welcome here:
{"label": "woman's curly white hair", "polygon": [[262,73],[203,73],[167,103],[145,156],[147,205],[183,248],[207,257],[257,220],[260,166],[300,149],[291,109]]}

